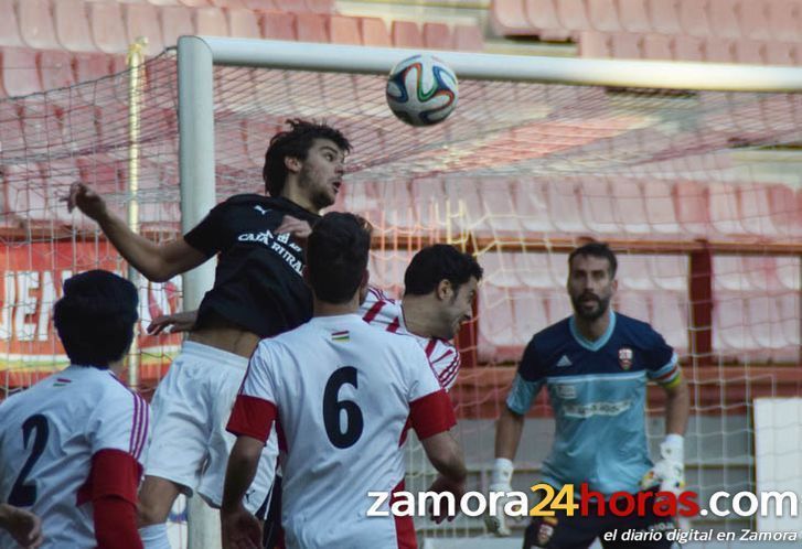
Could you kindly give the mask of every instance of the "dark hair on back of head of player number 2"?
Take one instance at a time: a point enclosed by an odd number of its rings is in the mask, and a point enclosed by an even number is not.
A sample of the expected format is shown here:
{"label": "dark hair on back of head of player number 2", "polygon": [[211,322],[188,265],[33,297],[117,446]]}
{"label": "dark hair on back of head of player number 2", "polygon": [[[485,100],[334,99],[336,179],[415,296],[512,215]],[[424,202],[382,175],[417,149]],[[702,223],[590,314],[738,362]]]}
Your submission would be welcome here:
{"label": "dark hair on back of head of player number 2", "polygon": [[53,322],[69,362],[107,368],[128,352],[139,319],[139,295],[128,280],[104,270],[64,281]]}

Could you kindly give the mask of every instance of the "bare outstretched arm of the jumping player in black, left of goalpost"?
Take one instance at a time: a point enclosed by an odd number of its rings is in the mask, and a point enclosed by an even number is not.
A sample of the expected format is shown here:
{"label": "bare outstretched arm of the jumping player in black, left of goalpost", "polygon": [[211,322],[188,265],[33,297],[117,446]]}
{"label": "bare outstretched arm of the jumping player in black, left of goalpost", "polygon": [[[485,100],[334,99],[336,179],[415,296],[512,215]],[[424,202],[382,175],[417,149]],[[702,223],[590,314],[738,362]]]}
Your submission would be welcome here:
{"label": "bare outstretched arm of the jumping player in black, left of goalpost", "polygon": [[109,212],[106,201],[84,183],[73,183],[67,209],[77,207],[97,222],[117,251],[149,280],[163,282],[204,262],[207,257],[179,238],[158,245],[133,233],[119,216]]}

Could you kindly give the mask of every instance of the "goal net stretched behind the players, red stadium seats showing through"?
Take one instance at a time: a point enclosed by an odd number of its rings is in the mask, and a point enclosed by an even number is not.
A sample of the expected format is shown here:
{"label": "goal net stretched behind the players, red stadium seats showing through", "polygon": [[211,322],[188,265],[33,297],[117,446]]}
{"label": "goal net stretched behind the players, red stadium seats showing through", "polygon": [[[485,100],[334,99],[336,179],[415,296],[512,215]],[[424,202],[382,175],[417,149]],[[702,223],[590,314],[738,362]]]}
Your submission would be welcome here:
{"label": "goal net stretched behind the players, red stadium seats showing through", "polygon": [[[387,68],[405,55],[385,53]],[[649,87],[627,78],[618,85],[520,82],[510,68],[509,77],[461,77],[455,114],[441,125],[411,128],[386,107],[385,76],[356,74],[364,71],[349,58],[340,57],[336,71],[242,66],[247,57],[240,66],[214,67],[216,200],[264,192],[264,153],[287,119],[323,120],[354,147],[334,208],[360,213],[376,227],[374,283],[400,295],[409,258],[431,243],[478,256],[485,277],[475,319],[459,338],[463,368],[451,394],[469,488],[486,489],[493,421],[515,363],[535,332],[570,314],[567,254],[592,238],[619,254],[614,308],[650,322],[681,356],[693,399],[688,488],[702,502],[718,489],[755,489],[752,400],[796,395],[801,385],[802,96],[782,86],[703,90],[715,87],[713,76],[677,89],[678,67],[669,65],[637,65],[654,67]],[[509,62],[482,58],[500,67]],[[538,60],[528,63],[536,67]],[[635,66],[608,63],[605,69]],[[760,89],[773,74],[742,69],[740,77],[745,88]],[[129,80],[121,73],[0,101],[6,395],[65,364],[51,322],[62,281],[90,268],[126,270],[96,225],[60,202],[69,184],[90,184],[121,214],[136,204],[139,229],[159,241],[181,234],[182,193],[186,200],[202,192],[200,182],[184,182],[183,192],[179,184],[174,53],[147,62],[133,95]],[[135,118],[131,98],[141,103]],[[180,310],[182,283],[138,284],[136,380],[149,395],[180,338],[143,331],[150,319]],[[653,389],[648,424],[655,449],[664,400]],[[537,480],[553,429],[541,395],[518,450],[516,489]],[[425,489],[434,476],[410,442],[407,489]],[[750,526],[738,517],[717,520],[699,517],[696,525]],[[416,525],[421,539],[485,535],[480,519],[466,516]]]}

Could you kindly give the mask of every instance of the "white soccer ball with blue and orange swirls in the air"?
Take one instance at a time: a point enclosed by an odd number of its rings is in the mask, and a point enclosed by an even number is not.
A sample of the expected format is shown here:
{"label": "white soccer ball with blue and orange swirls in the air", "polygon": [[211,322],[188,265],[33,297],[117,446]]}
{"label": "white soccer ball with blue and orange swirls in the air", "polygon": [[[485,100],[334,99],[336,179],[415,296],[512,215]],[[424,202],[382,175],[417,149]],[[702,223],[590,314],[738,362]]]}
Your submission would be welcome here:
{"label": "white soccer ball with blue and orange swirls in the air", "polygon": [[441,122],[457,107],[457,75],[431,55],[408,57],[389,72],[387,105],[411,126]]}

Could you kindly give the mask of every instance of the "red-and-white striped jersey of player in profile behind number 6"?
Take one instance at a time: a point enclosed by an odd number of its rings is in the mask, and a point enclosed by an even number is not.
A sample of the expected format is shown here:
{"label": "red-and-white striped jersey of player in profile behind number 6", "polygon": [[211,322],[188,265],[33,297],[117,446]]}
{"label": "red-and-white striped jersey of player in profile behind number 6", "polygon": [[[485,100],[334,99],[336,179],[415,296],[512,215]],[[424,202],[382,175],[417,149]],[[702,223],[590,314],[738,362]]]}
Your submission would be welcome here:
{"label": "red-and-white striped jersey of player in profile behind number 6", "polygon": [[362,320],[387,332],[410,335],[426,352],[429,364],[440,381],[440,387],[451,390],[460,370],[460,354],[451,342],[438,337],[421,337],[407,330],[400,300],[391,299],[374,287],[367,290],[367,298],[360,308]]}

